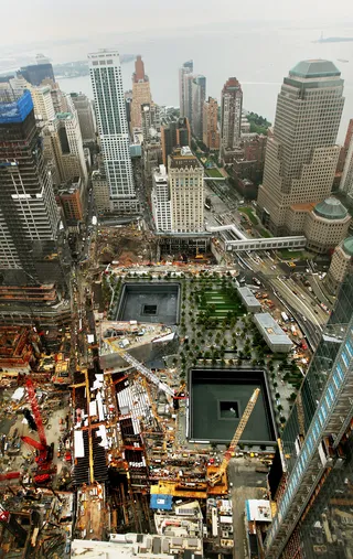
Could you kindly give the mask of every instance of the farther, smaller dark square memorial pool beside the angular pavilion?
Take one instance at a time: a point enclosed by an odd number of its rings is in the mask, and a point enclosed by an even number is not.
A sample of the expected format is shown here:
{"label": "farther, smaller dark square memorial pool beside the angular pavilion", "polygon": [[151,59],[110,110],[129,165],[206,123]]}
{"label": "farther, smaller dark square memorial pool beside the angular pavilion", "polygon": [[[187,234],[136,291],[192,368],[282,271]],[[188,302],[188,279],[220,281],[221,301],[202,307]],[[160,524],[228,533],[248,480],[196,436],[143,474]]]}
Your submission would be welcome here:
{"label": "farther, smaller dark square memorial pool beside the angular pavilion", "polygon": [[[116,320],[178,324],[180,291],[176,282],[127,282],[122,286]],[[156,313],[145,312],[146,305],[156,305]]]}

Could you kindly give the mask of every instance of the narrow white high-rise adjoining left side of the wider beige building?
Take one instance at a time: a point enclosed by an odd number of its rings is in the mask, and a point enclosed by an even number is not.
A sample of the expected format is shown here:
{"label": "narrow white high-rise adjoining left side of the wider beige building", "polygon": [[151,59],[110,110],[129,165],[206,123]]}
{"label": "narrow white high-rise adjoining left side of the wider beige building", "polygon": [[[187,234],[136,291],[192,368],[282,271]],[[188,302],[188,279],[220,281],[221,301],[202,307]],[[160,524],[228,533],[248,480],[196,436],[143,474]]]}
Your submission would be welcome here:
{"label": "narrow white high-rise adjoining left side of the wider beige building", "polygon": [[156,229],[158,232],[171,232],[171,201],[169,180],[164,165],[159,165],[159,169],[156,169],[153,172],[151,202]]}

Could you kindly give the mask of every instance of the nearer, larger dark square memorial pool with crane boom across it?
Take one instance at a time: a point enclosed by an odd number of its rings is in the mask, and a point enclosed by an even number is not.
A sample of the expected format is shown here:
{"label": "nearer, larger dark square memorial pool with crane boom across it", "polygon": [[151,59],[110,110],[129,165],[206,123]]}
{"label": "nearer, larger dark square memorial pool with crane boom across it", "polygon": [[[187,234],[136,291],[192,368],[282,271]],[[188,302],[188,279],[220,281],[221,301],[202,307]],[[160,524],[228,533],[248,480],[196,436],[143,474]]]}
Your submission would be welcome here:
{"label": "nearer, larger dark square memorial pool with crane boom across it", "polygon": [[[228,443],[255,388],[256,406],[240,439],[245,444],[274,444],[276,421],[266,373],[254,368],[192,368],[189,372],[189,439]],[[239,418],[221,418],[221,401],[235,401]]]}

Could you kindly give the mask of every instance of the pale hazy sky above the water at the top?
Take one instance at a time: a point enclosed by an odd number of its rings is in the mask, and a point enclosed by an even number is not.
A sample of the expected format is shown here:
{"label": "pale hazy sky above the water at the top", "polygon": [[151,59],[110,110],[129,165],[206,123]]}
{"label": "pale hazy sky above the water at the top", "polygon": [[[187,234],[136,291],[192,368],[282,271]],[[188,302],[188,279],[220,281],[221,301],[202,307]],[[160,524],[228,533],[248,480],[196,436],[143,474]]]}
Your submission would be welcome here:
{"label": "pale hazy sky above the water at the top", "polygon": [[[1,3],[0,43],[192,28],[225,21],[353,22],[352,0],[15,0]],[[4,23],[6,22],[6,23]]]}

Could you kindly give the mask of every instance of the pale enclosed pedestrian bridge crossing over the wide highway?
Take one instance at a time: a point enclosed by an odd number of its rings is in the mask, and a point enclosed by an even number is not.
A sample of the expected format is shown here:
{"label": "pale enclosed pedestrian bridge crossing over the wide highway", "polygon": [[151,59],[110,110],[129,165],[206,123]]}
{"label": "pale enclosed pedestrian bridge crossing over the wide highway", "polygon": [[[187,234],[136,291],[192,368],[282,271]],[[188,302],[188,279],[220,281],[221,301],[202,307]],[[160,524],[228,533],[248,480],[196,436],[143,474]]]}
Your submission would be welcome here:
{"label": "pale enclosed pedestrian bridge crossing over the wide highway", "polygon": [[302,235],[293,237],[260,237],[260,238],[248,238],[242,233],[235,225],[220,225],[218,227],[206,227],[210,233],[222,233],[231,230],[236,237],[236,240],[228,240],[223,238],[225,249],[236,250],[271,250],[274,248],[304,248],[307,246],[307,238]]}

